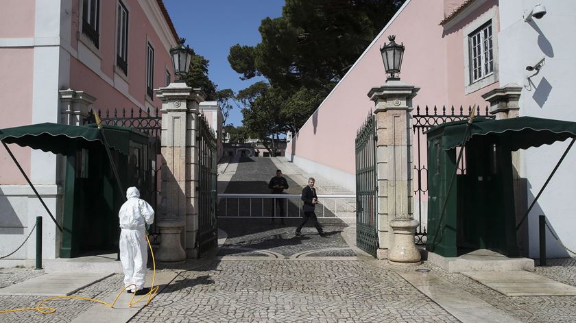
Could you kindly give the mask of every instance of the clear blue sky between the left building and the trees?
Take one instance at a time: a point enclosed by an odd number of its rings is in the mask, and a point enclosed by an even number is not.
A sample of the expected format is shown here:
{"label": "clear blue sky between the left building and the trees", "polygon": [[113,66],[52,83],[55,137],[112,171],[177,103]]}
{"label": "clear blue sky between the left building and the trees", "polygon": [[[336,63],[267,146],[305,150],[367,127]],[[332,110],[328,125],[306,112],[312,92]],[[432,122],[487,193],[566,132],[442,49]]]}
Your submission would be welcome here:
{"label": "clear blue sky between the left building and the trees", "polygon": [[[260,43],[260,22],[282,15],[284,0],[164,0],[172,22],[187,45],[210,61],[208,76],[218,89],[232,88],[236,93],[262,80],[240,80],[230,68],[228,53],[235,44]],[[240,109],[230,111],[226,123],[241,125]]]}

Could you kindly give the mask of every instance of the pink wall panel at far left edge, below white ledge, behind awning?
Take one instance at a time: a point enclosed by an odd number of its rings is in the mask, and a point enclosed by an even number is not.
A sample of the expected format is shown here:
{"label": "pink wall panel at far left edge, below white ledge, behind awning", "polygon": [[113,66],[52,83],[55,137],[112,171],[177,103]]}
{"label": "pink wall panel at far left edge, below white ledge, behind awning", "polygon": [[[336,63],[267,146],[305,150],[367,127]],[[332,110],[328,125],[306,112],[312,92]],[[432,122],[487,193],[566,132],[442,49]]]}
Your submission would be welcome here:
{"label": "pink wall panel at far left edge, below white ledge, behind awning", "polygon": [[[34,49],[0,49],[0,129],[27,125],[32,121],[32,80],[34,78]],[[24,171],[30,173],[30,149],[9,145]],[[0,184],[26,184],[16,165],[0,147]]]}

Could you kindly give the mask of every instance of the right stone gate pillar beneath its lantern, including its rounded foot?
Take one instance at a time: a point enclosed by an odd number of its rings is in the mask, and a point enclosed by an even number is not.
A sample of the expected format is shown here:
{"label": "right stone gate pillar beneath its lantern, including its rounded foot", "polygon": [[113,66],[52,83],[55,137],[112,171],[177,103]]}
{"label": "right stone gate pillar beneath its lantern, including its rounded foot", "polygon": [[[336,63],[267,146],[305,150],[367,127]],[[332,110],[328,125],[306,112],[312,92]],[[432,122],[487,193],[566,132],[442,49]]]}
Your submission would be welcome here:
{"label": "right stone gate pillar beneath its lantern, including its rounded foot", "polygon": [[418,264],[413,219],[412,98],[420,88],[389,80],[372,88],[368,97],[376,109],[379,259]]}

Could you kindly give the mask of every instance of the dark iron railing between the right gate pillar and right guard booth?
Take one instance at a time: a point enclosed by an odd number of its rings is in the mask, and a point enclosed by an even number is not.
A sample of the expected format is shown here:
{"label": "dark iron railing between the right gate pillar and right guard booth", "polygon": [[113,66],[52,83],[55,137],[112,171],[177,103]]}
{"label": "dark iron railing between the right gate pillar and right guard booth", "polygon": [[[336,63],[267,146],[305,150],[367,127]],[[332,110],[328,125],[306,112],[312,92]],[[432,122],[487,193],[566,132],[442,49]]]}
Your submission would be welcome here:
{"label": "dark iron railing between the right gate pillar and right guard booth", "polygon": [[[418,214],[418,221],[420,225],[416,228],[416,243],[425,244],[427,238],[427,220],[428,220],[428,161],[427,161],[427,136],[424,134],[426,130],[440,125],[445,122],[466,120],[470,117],[472,107],[459,109],[450,108],[446,111],[443,106],[442,110],[434,106],[433,111],[429,111],[428,106],[424,111],[420,111],[420,106],[416,107],[416,113],[412,115],[412,130],[414,133],[414,208]],[[481,111],[483,110],[483,111]],[[478,117],[485,117],[494,119],[493,115],[489,115],[488,106],[485,109],[478,107],[475,114]],[[465,158],[459,165],[459,172],[464,173],[466,165],[464,165]]]}

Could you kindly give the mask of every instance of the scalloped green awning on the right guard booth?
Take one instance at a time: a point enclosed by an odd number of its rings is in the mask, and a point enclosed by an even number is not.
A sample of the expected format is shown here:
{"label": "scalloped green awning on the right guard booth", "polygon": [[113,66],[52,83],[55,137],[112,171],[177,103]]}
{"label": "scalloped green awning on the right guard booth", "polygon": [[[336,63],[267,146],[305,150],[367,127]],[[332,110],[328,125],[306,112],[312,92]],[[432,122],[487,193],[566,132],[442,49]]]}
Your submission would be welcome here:
{"label": "scalloped green awning on the right guard booth", "polygon": [[[442,148],[450,150],[461,145],[467,123],[467,120],[442,123],[425,133],[439,134],[442,132]],[[470,125],[468,141],[474,141],[480,136],[494,143],[506,141],[510,143],[511,149],[514,151],[575,138],[576,122],[535,117],[503,120],[476,118]]]}

